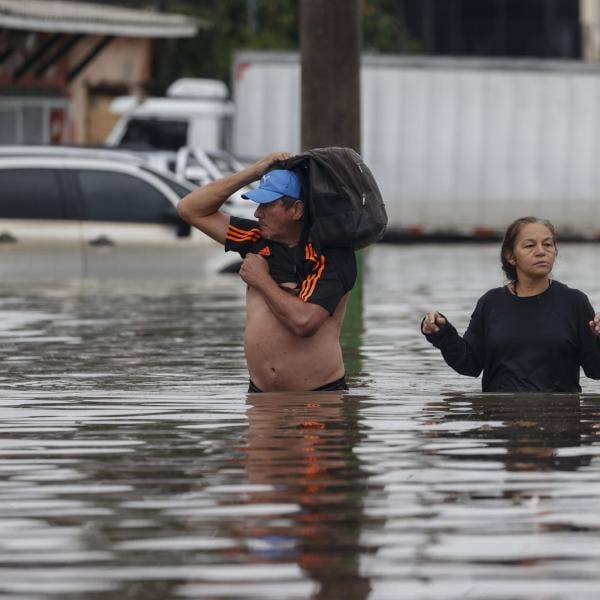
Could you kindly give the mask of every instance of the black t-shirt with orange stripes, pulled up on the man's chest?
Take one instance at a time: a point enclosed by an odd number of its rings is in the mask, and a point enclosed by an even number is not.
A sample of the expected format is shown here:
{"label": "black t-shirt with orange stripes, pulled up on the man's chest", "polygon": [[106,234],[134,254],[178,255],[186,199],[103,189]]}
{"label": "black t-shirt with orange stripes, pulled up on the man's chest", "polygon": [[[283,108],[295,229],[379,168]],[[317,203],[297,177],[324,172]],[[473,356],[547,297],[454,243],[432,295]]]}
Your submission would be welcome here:
{"label": "black t-shirt with orange stripes, pulled up on the man's chest", "polygon": [[353,250],[324,248],[317,254],[308,242],[303,258],[298,260],[296,248],[262,237],[258,222],[250,219],[230,218],[225,250],[238,252],[242,258],[248,253],[260,254],[277,283],[295,283],[301,300],[318,304],[330,314],[356,281]]}

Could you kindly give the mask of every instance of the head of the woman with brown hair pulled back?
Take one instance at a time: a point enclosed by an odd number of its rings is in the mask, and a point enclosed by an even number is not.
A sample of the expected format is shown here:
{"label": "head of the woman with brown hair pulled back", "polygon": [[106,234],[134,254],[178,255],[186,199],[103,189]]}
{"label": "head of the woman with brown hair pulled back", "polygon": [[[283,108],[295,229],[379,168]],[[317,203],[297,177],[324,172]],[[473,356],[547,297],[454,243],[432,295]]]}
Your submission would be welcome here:
{"label": "head of the woman with brown hair pulled back", "polygon": [[542,223],[528,223],[519,232],[508,262],[517,269],[517,275],[547,277],[556,260],[556,244],[552,232]]}

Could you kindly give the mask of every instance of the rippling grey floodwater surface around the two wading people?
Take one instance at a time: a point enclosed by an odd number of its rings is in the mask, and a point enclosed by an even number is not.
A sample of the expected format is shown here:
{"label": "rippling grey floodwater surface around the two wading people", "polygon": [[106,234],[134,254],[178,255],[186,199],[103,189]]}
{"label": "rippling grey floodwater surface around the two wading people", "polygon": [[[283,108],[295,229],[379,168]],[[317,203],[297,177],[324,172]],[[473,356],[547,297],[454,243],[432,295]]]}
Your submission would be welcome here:
{"label": "rippling grey floodwater surface around the two wading people", "polygon": [[245,394],[235,277],[1,287],[0,596],[597,598],[600,383],[481,395],[418,332],[496,251],[369,253],[346,395]]}

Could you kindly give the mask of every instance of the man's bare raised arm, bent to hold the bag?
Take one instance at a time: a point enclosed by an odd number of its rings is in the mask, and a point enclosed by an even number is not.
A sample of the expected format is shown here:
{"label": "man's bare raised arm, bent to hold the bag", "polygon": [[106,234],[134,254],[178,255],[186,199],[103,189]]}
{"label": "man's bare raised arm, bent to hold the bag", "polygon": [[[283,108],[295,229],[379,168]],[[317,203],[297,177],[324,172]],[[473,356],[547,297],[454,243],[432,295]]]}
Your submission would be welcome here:
{"label": "man's bare raised arm, bent to hold the bag", "polygon": [[217,242],[224,244],[229,227],[229,215],[219,210],[221,206],[239,189],[260,179],[277,161],[289,157],[287,152],[273,152],[233,175],[199,187],[181,199],[177,206],[179,216]]}

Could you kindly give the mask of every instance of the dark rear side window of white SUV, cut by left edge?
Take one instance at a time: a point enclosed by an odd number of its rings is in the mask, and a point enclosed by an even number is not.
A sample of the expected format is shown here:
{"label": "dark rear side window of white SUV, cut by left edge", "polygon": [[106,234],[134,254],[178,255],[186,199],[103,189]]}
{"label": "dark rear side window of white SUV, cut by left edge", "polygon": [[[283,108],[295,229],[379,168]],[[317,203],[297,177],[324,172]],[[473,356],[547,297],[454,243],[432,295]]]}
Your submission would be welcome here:
{"label": "dark rear side window of white SUV, cut by left edge", "polygon": [[65,219],[58,173],[0,169],[0,219]]}

